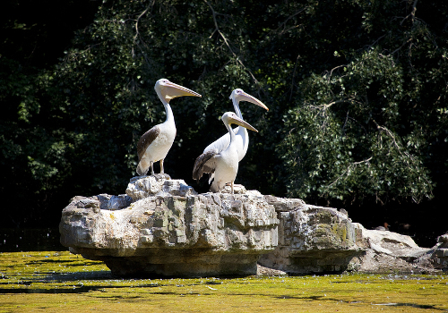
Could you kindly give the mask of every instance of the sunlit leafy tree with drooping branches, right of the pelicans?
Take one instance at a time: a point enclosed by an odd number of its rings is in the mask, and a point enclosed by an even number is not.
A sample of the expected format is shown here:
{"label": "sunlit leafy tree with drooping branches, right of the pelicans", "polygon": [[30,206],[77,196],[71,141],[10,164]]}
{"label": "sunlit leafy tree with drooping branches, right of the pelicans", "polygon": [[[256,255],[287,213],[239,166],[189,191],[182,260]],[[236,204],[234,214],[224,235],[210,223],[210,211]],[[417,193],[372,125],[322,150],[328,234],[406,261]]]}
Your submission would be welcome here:
{"label": "sunlit leafy tree with drooping branches, right of the pelicans", "polygon": [[358,46],[335,50],[344,63],[297,84],[301,103],[281,144],[289,195],[431,199],[431,146],[447,140],[446,33],[416,15],[417,1],[357,3]]}

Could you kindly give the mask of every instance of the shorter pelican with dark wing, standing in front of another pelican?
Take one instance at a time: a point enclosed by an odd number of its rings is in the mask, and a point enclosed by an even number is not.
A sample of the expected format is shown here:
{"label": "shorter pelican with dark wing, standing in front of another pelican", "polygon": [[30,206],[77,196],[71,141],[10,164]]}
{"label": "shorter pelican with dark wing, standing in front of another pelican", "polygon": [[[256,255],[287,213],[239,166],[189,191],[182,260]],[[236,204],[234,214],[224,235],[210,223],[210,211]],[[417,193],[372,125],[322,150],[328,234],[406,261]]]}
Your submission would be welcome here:
{"label": "shorter pelican with dark wing, standing in front of another pelican", "polygon": [[227,148],[220,152],[217,149],[211,149],[197,157],[196,162],[194,162],[193,178],[196,181],[199,181],[202,177],[202,173],[214,174],[214,181],[211,184],[210,190],[212,192],[220,192],[226,183],[230,182],[233,194],[233,182],[235,182],[235,178],[237,177],[239,160],[237,135],[230,127],[230,124],[237,124],[242,126],[241,128],[244,127],[251,131],[258,131],[233,112],[226,112],[222,115],[221,120],[228,130],[230,143]]}

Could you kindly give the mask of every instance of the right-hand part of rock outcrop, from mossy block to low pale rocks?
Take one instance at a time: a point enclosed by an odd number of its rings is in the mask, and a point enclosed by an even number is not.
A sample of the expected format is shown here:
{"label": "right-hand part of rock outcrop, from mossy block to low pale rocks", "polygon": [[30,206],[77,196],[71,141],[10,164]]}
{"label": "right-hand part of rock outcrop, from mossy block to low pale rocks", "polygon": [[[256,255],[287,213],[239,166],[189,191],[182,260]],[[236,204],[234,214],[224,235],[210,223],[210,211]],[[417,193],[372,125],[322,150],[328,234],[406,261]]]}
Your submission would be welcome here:
{"label": "right-hand part of rock outcrop, from mossy block to low pale rocks", "polygon": [[279,245],[259,263],[289,275],[334,273],[435,273],[448,269],[448,235],[432,249],[407,235],[367,230],[345,209],[264,196],[280,219]]}

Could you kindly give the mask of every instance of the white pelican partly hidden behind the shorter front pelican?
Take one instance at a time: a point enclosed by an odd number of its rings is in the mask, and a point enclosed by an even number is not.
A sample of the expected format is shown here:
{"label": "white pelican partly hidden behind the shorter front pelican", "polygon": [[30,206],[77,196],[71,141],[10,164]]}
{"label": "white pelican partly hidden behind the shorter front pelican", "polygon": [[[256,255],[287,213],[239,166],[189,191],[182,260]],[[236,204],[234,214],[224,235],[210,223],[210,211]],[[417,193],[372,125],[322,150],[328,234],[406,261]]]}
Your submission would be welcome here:
{"label": "white pelican partly hidden behind the shorter front pelican", "polygon": [[[251,95],[246,94],[246,92],[243,89],[233,90],[229,98],[232,100],[233,107],[235,109],[237,117],[239,117],[240,119],[243,119],[243,115],[241,114],[241,110],[239,109],[239,101],[251,102],[254,105],[261,106],[267,111],[269,111],[269,108],[267,106],[264,106],[262,101],[258,100],[256,97],[252,97]],[[243,157],[246,156],[247,147],[249,147],[249,134],[247,133],[245,127],[237,127],[233,131],[236,135],[235,140],[237,141],[238,162],[239,162],[243,159]],[[226,133],[219,140],[215,140],[206,148],[204,148],[203,153],[206,153],[211,150],[215,150],[218,153],[220,153],[225,148],[228,148],[229,143],[230,143],[230,134]],[[212,180],[213,180],[213,174],[211,173],[209,183]]]}

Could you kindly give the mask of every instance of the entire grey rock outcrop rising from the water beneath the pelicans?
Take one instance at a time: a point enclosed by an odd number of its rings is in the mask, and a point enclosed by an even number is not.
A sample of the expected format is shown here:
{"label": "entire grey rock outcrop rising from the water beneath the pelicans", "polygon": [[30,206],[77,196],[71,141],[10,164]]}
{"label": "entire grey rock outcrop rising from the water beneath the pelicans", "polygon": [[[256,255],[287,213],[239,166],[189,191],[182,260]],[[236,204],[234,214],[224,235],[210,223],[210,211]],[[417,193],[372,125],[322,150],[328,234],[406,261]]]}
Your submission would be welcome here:
{"label": "entire grey rock outcrop rising from the water beneath the pelicans", "polygon": [[424,249],[409,236],[366,230],[344,209],[263,196],[241,185],[228,192],[197,194],[182,180],[135,177],[124,195],[74,197],[62,212],[61,243],[119,276],[448,268],[448,234]]}

